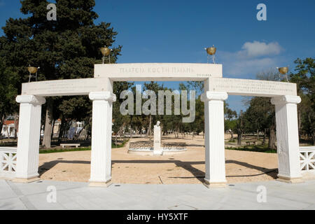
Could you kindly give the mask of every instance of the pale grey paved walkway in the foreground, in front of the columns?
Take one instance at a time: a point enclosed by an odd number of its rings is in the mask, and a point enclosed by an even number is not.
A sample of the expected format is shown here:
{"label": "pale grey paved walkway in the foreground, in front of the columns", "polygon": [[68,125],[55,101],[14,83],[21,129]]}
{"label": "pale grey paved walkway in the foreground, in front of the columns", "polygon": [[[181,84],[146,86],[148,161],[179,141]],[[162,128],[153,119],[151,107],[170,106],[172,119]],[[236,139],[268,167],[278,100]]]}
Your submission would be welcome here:
{"label": "pale grey paved walkway in the foreground, in front of the columns", "polygon": [[[56,203],[48,203],[49,186],[57,189]],[[267,190],[265,203],[257,201],[258,186]],[[315,181],[235,183],[208,189],[202,184],[89,188],[87,183],[0,180],[0,209],[315,209]]]}

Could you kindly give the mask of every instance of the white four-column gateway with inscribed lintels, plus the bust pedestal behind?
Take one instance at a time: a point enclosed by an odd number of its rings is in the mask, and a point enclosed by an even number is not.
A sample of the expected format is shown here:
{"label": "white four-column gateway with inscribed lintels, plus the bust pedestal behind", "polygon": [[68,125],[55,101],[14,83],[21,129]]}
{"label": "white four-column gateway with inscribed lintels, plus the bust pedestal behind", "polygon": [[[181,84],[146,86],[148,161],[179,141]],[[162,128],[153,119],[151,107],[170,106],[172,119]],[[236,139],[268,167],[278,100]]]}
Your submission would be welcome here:
{"label": "white four-column gateway with inscribed lintels, plus the bust pedestal behind", "polygon": [[[93,102],[90,186],[111,182],[113,81],[204,81],[205,184],[225,186],[224,101],[228,94],[270,97],[276,107],[279,180],[301,180],[295,83],[222,78],[221,64],[96,64],[94,78],[22,85],[16,181],[38,178],[41,105],[44,97],[88,94]],[[161,155],[160,123],[154,127],[154,153]]]}

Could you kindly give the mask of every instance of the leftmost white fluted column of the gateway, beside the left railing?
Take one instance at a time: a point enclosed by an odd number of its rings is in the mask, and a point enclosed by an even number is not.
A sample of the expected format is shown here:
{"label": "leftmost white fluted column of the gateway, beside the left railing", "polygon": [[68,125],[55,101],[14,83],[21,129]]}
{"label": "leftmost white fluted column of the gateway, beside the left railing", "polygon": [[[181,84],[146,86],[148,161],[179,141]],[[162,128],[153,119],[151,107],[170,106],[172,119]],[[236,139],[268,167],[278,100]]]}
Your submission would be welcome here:
{"label": "leftmost white fluted column of the gateway, beside the left railing", "polygon": [[20,103],[18,128],[18,157],[15,182],[29,183],[38,180],[38,154],[41,134],[41,105],[45,98],[34,95],[16,97]]}

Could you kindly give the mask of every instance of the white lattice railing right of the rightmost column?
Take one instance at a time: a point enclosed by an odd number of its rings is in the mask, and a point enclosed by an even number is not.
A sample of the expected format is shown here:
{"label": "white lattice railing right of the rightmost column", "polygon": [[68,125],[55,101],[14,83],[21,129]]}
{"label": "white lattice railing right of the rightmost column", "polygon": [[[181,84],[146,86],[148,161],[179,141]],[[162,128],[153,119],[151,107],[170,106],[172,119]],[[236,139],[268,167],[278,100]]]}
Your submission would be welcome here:
{"label": "white lattice railing right of the rightmost column", "polygon": [[315,172],[315,146],[300,147],[302,172]]}

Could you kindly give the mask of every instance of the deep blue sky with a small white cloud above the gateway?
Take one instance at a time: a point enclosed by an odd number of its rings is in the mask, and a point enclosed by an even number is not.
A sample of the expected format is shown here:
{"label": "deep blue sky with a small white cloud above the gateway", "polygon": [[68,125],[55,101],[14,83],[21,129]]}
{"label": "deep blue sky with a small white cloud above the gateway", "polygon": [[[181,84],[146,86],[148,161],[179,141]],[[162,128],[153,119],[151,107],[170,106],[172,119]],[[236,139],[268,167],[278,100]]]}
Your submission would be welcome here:
{"label": "deep blue sky with a small white cloud above the gateway", "polygon": [[[256,19],[265,3],[267,21]],[[315,56],[315,1],[106,1],[97,0],[96,23],[111,22],[123,45],[118,63],[207,63],[204,48],[216,45],[223,77],[253,78],[256,73]],[[21,16],[20,1],[0,0],[0,25]],[[0,31],[0,34],[3,34]],[[115,46],[114,45],[114,46]],[[179,83],[165,83],[178,88]],[[244,109],[230,96],[232,109]]]}

